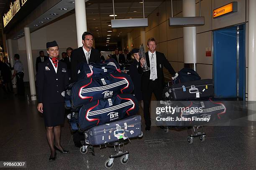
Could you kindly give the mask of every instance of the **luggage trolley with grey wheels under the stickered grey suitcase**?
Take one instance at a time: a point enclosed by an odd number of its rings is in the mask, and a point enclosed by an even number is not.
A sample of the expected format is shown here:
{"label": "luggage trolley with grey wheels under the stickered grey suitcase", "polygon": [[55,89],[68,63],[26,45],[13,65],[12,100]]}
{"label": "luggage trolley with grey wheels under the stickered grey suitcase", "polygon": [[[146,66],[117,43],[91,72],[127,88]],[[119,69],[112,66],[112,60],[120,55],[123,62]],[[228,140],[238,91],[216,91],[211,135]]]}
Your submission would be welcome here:
{"label": "luggage trolley with grey wheels under the stickered grey suitcase", "polygon": [[[142,136],[143,136],[143,133],[141,132],[141,135],[138,136],[138,138],[142,138]],[[105,165],[106,168],[110,169],[110,168],[113,167],[115,158],[120,158],[120,162],[122,164],[128,163],[129,151],[124,150],[124,146],[127,143],[131,143],[129,138],[127,138],[125,140],[120,139],[120,140],[117,140],[115,142],[105,143],[105,144],[100,145],[100,149],[114,148],[114,150],[115,150],[115,154],[111,154],[109,156],[109,158],[105,161],[104,165]],[[88,152],[88,148],[90,150],[89,152],[92,153],[93,156],[95,156],[93,146],[89,142],[87,142],[87,140],[85,139],[84,145],[80,148],[80,152],[82,154],[86,154]]]}

